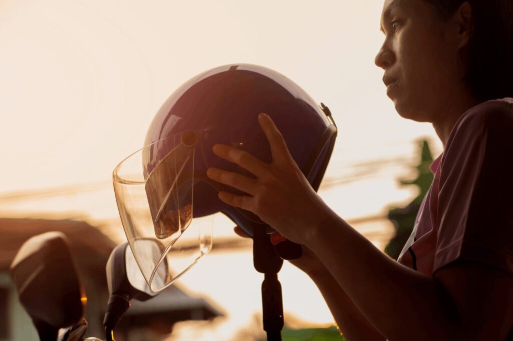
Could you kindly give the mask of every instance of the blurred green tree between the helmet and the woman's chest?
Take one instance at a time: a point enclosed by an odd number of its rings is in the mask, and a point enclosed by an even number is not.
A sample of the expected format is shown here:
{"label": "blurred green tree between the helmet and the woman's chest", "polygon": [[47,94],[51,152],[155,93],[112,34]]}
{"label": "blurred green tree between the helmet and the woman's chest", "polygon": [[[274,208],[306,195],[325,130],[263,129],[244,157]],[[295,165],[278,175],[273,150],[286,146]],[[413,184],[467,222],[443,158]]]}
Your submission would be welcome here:
{"label": "blurred green tree between the helmet and the woman's chest", "polygon": [[400,184],[401,186],[416,185],[419,188],[419,195],[405,207],[391,208],[387,215],[396,233],[385,247],[385,253],[393,259],[398,259],[399,253],[411,235],[417,212],[433,181],[433,174],[429,169],[429,165],[433,162],[429,143],[427,140],[420,140],[418,143],[420,161],[413,167],[417,171],[417,177],[413,180],[400,179]]}

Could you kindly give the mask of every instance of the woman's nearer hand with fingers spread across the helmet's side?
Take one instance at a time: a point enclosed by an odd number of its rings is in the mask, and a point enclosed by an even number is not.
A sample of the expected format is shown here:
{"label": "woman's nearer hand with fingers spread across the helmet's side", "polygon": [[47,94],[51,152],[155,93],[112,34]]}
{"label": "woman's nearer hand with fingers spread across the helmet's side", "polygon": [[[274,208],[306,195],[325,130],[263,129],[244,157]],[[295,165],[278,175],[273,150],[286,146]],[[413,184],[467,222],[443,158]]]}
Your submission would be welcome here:
{"label": "woman's nearer hand with fingers spread across the helmet's side", "polygon": [[248,194],[235,195],[221,191],[219,198],[222,201],[253,212],[285,238],[307,244],[314,236],[315,227],[331,210],[301,173],[271,118],[262,113],[259,123],[271,147],[271,163],[267,164],[228,145],[216,144],[213,147],[216,155],[238,164],[256,179],[218,168],[209,168],[207,175],[212,180]]}

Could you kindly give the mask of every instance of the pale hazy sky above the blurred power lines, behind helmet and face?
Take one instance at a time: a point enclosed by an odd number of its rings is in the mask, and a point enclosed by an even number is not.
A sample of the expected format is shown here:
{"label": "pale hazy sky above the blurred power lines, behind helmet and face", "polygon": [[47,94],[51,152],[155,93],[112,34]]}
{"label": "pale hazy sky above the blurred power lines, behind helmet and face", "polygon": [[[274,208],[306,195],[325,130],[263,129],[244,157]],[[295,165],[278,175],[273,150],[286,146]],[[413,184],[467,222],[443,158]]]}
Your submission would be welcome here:
{"label": "pale hazy sky above the blurred power lines, behind helmet and face", "polygon": [[373,64],[381,1],[0,4],[0,192],[109,180],[174,89],[235,62],[277,70],[329,106],[332,165],[434,136],[399,117]]}

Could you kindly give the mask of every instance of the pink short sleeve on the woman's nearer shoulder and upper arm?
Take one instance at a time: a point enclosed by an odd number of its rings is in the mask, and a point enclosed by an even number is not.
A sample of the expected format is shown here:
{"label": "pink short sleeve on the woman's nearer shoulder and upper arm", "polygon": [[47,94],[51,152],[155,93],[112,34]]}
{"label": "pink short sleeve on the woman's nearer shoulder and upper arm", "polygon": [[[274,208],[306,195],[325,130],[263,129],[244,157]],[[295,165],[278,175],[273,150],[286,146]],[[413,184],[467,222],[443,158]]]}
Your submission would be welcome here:
{"label": "pink short sleeve on the woman's nearer shoulder and upper arm", "polygon": [[433,272],[463,258],[513,273],[513,118],[503,104],[466,115],[447,142]]}

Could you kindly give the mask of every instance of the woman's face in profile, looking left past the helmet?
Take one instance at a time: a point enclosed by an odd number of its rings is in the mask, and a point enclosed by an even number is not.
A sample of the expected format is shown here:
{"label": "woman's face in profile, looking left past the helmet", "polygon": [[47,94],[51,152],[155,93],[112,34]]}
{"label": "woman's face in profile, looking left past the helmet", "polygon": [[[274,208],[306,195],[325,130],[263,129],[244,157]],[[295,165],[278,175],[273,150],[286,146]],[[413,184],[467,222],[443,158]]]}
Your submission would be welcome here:
{"label": "woman's face in profile, looking left past the helmet", "polygon": [[387,96],[404,118],[433,122],[462,87],[459,47],[446,39],[455,32],[449,25],[424,0],[385,0],[385,41],[375,62],[385,70]]}

